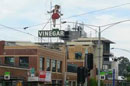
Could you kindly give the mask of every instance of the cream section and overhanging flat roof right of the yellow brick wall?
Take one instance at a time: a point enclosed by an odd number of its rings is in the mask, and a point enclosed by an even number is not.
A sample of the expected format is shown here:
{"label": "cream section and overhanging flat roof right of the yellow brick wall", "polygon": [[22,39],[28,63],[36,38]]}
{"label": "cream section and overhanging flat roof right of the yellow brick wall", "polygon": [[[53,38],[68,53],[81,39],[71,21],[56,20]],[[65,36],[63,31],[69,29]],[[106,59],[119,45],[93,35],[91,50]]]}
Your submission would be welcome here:
{"label": "cream section and overhanging flat roof right of the yellow brick wall", "polygon": [[[83,43],[83,42],[87,42],[90,43],[93,49],[93,53],[94,53],[94,62],[96,65],[98,65],[98,38],[97,37],[88,37],[88,38],[79,38],[77,40],[74,40],[75,42],[78,43]],[[110,69],[111,68],[111,62],[109,60],[109,57],[111,56],[110,53],[110,44],[112,44],[114,42],[105,39],[105,38],[101,38],[101,64],[100,67],[101,69]],[[84,46],[84,45],[83,45]],[[74,58],[74,57],[72,57]]]}

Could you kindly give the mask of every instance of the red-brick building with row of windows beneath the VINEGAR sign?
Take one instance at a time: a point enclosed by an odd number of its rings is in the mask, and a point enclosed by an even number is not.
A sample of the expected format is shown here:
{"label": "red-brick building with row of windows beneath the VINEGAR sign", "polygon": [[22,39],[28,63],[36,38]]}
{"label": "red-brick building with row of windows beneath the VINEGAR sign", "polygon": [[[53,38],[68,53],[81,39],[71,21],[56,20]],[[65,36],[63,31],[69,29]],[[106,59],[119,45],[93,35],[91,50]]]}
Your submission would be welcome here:
{"label": "red-brick building with row of windows beneath the VINEGAR sign", "polygon": [[[65,57],[64,51],[31,42],[0,41],[0,86],[63,86]],[[76,74],[66,76],[76,84]]]}

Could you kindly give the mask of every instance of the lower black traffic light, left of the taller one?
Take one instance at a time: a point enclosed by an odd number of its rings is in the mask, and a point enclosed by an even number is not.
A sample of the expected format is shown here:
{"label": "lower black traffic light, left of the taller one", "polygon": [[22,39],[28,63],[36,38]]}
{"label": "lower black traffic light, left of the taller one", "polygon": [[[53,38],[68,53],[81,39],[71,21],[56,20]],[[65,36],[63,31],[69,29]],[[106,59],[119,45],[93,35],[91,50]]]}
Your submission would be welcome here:
{"label": "lower black traffic light, left of the taller one", "polygon": [[85,67],[78,67],[77,69],[77,82],[84,83],[87,77],[88,70]]}

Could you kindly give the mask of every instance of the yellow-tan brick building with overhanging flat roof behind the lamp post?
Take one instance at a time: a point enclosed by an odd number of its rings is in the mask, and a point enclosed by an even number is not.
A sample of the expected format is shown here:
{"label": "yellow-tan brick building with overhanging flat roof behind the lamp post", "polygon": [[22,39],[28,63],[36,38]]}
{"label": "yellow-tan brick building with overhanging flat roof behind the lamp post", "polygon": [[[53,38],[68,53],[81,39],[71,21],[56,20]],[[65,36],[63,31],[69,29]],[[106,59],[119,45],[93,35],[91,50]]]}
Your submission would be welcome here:
{"label": "yellow-tan brick building with overhanging flat roof behind the lamp post", "polygon": [[[101,58],[100,58],[100,69],[102,71],[107,71],[111,69],[111,62],[109,60],[110,54],[110,44],[112,41],[101,38]],[[98,38],[79,38],[71,42],[67,42],[68,46],[68,65],[73,66],[85,66],[85,53],[93,54],[93,70],[91,70],[91,77],[96,78],[98,69]],[[70,70],[69,70],[70,71]]]}

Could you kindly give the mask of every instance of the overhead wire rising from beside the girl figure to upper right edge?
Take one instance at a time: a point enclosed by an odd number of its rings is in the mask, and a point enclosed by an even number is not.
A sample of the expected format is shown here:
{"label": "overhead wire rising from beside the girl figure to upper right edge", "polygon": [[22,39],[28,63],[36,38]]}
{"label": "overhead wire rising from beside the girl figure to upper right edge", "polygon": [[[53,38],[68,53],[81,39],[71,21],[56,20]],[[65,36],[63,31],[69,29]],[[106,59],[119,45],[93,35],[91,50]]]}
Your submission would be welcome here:
{"label": "overhead wire rising from beside the girl figure to upper right edge", "polygon": [[130,3],[125,3],[125,4],[121,4],[121,5],[117,5],[117,6],[107,7],[107,8],[103,8],[103,9],[99,9],[99,10],[95,10],[95,11],[90,11],[90,12],[86,12],[86,13],[82,13],[82,14],[78,14],[78,15],[73,15],[73,16],[70,16],[70,17],[67,17],[67,18],[64,18],[64,19],[69,19],[69,18],[72,18],[72,17],[78,17],[78,16],[90,14],[90,13],[95,13],[95,12],[100,12],[100,11],[104,11],[104,10],[108,10],[108,9],[113,9],[113,8],[121,7],[121,6],[128,5],[128,4],[130,4]]}

